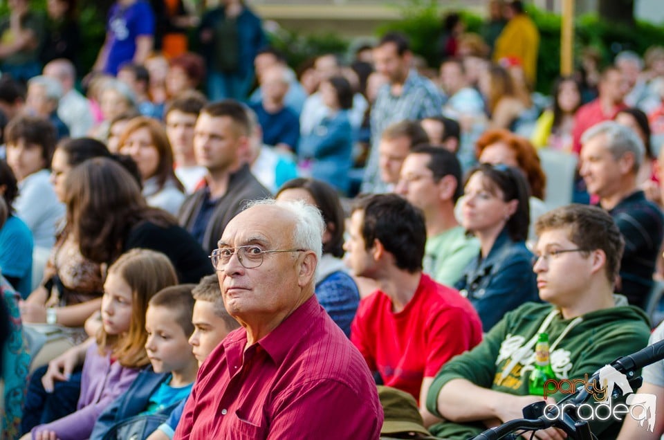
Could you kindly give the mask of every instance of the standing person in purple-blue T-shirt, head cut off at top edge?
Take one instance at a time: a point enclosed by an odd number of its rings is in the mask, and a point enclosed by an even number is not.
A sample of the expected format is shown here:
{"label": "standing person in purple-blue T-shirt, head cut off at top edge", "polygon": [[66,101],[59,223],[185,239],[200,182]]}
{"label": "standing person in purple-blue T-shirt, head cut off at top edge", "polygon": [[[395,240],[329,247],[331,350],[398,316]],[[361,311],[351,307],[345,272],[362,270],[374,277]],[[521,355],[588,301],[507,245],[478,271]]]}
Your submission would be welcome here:
{"label": "standing person in purple-blue T-shirt, head cut off at top edge", "polygon": [[93,71],[116,75],[125,62],[143,64],[154,46],[154,26],[154,12],[146,0],[116,1]]}

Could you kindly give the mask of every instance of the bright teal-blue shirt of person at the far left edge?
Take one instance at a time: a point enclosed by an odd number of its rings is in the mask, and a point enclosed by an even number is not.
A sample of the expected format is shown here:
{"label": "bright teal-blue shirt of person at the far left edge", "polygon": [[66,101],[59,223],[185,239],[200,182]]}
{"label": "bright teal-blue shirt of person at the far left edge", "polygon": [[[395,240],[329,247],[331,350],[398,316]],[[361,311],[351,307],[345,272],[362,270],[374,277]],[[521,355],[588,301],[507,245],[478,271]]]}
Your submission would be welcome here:
{"label": "bright teal-blue shirt of person at the far left edge", "polygon": [[33,233],[18,217],[12,215],[0,229],[0,271],[17,278],[16,290],[26,298],[32,290]]}

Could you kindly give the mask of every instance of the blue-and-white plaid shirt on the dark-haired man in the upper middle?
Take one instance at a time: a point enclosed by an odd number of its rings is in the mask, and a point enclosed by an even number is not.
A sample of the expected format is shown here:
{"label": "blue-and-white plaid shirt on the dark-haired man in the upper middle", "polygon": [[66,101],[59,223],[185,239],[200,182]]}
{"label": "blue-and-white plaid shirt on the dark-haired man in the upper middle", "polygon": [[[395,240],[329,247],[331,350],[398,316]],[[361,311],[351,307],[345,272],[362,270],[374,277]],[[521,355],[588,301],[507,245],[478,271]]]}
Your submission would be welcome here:
{"label": "blue-and-white plaid shirt on the dark-haired man in the upper middle", "polygon": [[402,120],[416,120],[443,113],[443,95],[436,85],[411,70],[400,95],[391,94],[390,84],[382,86],[371,109],[371,152],[365,167],[362,192],[384,192],[387,187],[378,171],[378,143],[385,128]]}

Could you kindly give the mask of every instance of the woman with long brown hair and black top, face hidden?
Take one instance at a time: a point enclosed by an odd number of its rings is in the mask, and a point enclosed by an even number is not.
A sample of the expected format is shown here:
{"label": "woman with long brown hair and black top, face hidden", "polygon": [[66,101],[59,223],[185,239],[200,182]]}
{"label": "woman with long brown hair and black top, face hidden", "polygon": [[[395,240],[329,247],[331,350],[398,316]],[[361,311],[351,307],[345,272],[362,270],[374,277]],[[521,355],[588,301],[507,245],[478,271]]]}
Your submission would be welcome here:
{"label": "woman with long brown hair and black top, face hidden", "polygon": [[86,161],[71,170],[65,188],[66,228],[84,257],[110,265],[131,248],[147,248],[169,257],[181,283],[212,273],[203,248],[170,214],[148,207],[122,165],[108,158]]}

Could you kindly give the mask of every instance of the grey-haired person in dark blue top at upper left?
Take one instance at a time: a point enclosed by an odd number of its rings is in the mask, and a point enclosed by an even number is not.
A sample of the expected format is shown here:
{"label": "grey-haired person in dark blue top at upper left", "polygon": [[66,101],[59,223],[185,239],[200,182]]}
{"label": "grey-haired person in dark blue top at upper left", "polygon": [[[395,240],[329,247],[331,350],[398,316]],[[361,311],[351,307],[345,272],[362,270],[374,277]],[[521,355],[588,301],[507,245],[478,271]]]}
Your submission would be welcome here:
{"label": "grey-haired person in dark blue top at upper left", "polygon": [[68,127],[57,116],[57,106],[62,98],[62,86],[51,77],[38,75],[28,80],[26,110],[32,116],[50,120],[57,131],[57,139],[69,136]]}

